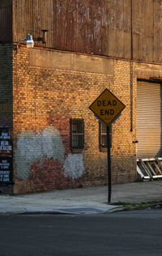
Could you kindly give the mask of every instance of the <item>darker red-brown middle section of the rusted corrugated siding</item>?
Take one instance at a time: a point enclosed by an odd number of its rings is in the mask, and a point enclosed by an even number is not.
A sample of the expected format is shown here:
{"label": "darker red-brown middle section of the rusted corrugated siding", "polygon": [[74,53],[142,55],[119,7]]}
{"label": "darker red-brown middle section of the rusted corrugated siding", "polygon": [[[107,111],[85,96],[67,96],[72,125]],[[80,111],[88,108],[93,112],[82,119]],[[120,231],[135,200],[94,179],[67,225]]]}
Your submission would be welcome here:
{"label": "darker red-brown middle section of the rusted corrugated siding", "polygon": [[55,49],[104,55],[104,0],[56,0],[54,10]]}

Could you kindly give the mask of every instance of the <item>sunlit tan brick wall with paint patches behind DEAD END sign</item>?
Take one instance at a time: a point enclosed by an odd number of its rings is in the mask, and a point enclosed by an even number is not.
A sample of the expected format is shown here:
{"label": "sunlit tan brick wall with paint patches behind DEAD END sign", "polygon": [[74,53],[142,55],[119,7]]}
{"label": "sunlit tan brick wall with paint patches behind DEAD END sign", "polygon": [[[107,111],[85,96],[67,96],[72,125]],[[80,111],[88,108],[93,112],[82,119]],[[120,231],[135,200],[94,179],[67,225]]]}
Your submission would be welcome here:
{"label": "sunlit tan brick wall with paint patches behind DEAD END sign", "polygon": [[[135,181],[136,107],[130,94],[135,96],[136,79],[130,62],[22,47],[13,63],[15,193],[107,182],[99,122],[88,109],[106,87],[126,105],[112,125],[112,179]],[[80,153],[70,150],[70,118],[84,119]]]}

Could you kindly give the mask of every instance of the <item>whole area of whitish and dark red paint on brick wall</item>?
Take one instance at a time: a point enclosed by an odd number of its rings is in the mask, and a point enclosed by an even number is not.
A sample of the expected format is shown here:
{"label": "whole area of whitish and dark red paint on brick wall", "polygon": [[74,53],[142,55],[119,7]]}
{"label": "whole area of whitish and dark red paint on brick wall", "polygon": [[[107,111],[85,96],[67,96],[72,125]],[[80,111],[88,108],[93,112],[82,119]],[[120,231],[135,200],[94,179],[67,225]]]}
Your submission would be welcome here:
{"label": "whole area of whitish and dark red paint on brick wall", "polygon": [[[69,138],[70,139],[70,134]],[[48,126],[42,132],[23,131],[15,150],[17,177],[36,186],[49,182],[55,187],[74,181],[83,175],[83,155],[67,154],[66,141],[58,129]],[[36,181],[34,181],[36,180]]]}

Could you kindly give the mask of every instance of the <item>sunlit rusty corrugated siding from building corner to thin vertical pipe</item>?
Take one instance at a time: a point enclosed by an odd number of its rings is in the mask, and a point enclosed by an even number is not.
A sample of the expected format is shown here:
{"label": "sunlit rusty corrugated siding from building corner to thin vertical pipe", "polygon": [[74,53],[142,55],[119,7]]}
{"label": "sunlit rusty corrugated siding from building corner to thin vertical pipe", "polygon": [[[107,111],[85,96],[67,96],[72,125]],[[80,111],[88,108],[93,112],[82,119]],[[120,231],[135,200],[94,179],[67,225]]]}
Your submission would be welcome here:
{"label": "sunlit rusty corrugated siding from building corner to thin vertical pipe", "polygon": [[15,42],[48,29],[46,47],[131,56],[130,0],[14,0],[14,15]]}

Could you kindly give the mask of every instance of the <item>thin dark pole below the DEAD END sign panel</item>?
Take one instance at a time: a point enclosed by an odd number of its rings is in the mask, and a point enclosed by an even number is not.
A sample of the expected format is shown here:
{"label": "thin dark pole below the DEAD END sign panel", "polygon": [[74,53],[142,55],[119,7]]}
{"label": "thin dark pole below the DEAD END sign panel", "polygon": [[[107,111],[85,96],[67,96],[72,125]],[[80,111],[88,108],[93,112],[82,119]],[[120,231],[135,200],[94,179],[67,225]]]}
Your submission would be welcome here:
{"label": "thin dark pole below the DEAD END sign panel", "polygon": [[107,126],[107,154],[108,154],[108,203],[111,203],[111,137],[110,137],[110,126]]}

